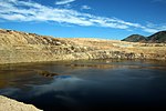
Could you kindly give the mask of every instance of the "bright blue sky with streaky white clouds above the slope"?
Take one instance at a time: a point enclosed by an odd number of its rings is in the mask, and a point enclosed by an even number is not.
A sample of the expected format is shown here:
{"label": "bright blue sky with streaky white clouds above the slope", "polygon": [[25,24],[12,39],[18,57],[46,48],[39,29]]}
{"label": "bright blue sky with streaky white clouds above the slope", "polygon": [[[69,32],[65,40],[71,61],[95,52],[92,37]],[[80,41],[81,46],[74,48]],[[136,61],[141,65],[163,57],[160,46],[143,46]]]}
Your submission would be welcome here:
{"label": "bright blue sky with streaky white clouds above the slope", "polygon": [[121,40],[166,30],[166,0],[0,0],[0,29]]}

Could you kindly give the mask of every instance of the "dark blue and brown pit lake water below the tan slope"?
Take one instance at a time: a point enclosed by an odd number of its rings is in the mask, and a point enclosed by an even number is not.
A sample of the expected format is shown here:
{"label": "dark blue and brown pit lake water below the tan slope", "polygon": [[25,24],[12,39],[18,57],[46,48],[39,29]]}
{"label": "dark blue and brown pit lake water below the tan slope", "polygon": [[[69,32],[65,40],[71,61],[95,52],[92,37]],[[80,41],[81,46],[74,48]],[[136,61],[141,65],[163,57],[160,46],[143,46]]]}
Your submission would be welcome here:
{"label": "dark blue and brown pit lake water below the tan slope", "polygon": [[1,65],[0,94],[44,111],[165,108],[166,62],[94,60]]}

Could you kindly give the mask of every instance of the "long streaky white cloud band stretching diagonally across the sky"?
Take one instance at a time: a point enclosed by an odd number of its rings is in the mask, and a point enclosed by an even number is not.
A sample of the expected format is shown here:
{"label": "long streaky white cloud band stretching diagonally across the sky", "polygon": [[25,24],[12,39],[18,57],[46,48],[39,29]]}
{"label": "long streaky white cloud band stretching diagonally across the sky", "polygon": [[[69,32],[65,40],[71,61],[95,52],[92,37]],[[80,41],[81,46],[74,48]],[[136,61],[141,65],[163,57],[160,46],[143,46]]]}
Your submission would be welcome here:
{"label": "long streaky white cloud band stretching diagonally across the sky", "polygon": [[50,21],[84,27],[105,27],[115,29],[142,29],[146,32],[156,32],[166,29],[165,26],[152,27],[127,22],[117,18],[97,17],[79,12],[72,9],[60,9],[42,6],[33,1],[1,0],[0,19],[9,21]]}

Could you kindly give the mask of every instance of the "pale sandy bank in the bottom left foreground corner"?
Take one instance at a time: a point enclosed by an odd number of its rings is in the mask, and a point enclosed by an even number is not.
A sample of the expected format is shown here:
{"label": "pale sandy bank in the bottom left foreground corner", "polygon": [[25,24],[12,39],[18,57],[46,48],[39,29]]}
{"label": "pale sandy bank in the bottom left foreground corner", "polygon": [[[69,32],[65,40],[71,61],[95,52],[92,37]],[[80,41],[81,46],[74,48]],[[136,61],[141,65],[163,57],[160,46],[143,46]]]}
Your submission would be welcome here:
{"label": "pale sandy bank in the bottom left foreground corner", "polygon": [[24,104],[15,100],[0,95],[0,111],[42,111],[32,104]]}

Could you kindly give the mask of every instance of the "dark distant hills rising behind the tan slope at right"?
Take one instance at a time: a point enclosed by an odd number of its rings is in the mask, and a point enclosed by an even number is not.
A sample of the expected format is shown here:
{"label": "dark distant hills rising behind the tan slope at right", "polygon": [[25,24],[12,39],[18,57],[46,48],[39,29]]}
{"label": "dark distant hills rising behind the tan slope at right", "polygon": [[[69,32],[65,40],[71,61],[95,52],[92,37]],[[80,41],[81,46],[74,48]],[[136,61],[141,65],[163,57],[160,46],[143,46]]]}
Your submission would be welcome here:
{"label": "dark distant hills rising behind the tan slope at right", "polygon": [[139,34],[132,34],[122,41],[128,42],[149,42],[149,43],[166,43],[166,31],[156,32],[149,37],[143,37]]}

